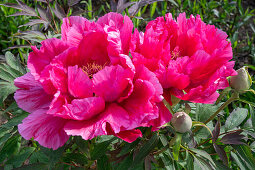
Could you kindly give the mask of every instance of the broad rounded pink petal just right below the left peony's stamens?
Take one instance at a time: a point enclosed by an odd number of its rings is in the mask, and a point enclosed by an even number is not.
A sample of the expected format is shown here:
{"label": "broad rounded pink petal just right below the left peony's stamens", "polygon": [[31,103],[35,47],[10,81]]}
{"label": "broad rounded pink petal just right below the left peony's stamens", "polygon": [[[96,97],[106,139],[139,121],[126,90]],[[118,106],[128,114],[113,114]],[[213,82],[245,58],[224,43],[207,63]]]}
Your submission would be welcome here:
{"label": "broad rounded pink petal just right below the left peony's stamens", "polygon": [[[130,85],[132,76],[133,73],[129,69],[124,69],[120,65],[106,66],[93,76],[94,92],[105,101],[116,101],[124,97],[123,92],[127,87],[131,87],[129,91],[132,91],[133,88]],[[124,92],[124,94],[130,95],[131,92]]]}

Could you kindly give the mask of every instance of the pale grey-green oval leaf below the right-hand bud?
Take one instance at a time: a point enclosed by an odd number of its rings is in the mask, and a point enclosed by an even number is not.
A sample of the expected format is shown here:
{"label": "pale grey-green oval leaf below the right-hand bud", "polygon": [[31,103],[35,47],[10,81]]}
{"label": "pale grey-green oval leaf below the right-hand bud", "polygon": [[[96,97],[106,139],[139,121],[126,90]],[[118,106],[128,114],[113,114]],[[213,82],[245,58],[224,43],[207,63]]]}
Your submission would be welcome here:
{"label": "pale grey-green oval leaf below the right-hand bud", "polygon": [[225,129],[231,130],[240,125],[248,115],[248,110],[244,108],[236,108],[227,118]]}

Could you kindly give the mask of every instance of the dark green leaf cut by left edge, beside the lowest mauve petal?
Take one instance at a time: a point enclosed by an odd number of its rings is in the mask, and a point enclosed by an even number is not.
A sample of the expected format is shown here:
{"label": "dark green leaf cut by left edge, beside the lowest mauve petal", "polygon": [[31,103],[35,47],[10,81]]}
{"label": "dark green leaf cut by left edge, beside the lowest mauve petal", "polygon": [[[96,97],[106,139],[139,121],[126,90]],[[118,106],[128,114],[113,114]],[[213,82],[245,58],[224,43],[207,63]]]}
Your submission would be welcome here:
{"label": "dark green leaf cut by left edge, beside the lowest mauve petal", "polygon": [[21,136],[14,136],[10,138],[0,151],[0,163],[2,163],[7,157],[9,158],[13,154],[17,153],[20,148]]}

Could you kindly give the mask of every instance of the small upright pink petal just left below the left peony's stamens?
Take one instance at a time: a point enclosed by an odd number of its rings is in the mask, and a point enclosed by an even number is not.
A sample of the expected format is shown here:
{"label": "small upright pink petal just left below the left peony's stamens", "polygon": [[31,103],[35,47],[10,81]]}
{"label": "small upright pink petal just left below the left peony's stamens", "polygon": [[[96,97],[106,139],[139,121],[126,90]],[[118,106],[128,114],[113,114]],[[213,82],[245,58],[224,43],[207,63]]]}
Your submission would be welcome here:
{"label": "small upright pink petal just left below the left peony's stamens", "polygon": [[92,81],[78,66],[68,67],[68,91],[75,98],[93,96]]}

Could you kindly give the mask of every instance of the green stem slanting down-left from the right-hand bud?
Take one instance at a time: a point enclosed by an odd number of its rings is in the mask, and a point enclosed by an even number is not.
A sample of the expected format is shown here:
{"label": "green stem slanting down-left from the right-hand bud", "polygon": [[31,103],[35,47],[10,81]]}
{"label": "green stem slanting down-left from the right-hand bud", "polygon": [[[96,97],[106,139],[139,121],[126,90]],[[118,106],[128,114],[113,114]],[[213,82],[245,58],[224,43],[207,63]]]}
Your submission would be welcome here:
{"label": "green stem slanting down-left from the right-hand bud", "polygon": [[[225,107],[227,107],[230,103],[232,103],[235,100],[238,100],[238,93],[234,92],[232,94],[232,96],[225,102],[223,103],[220,108],[212,115],[210,116],[205,122],[204,124],[207,124],[208,122],[210,122],[211,120],[213,120]],[[197,127],[193,130],[193,133],[196,133],[201,127]]]}

